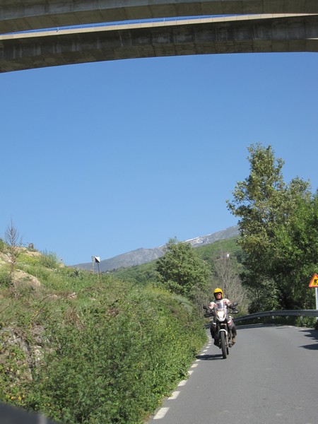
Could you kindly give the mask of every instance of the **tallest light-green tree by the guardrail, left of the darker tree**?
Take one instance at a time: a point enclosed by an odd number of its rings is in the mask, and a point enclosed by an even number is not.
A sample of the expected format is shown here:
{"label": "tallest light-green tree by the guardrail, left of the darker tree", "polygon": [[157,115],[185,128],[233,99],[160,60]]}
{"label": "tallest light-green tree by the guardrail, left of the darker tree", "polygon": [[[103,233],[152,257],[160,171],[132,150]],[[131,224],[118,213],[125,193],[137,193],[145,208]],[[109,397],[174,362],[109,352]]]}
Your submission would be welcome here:
{"label": "tallest light-green tree by the guardrail, left of the darker tree", "polygon": [[[312,195],[309,182],[300,178],[290,184],[283,181],[283,160],[276,159],[271,146],[260,143],[249,146],[250,175],[243,182],[237,182],[233,200],[228,201],[229,210],[240,218],[240,239],[245,254],[245,273],[242,281],[252,289],[254,302],[251,312],[276,307],[293,308],[298,283],[297,261],[287,269],[283,260],[287,259],[284,242],[289,234],[293,251],[298,249],[293,223],[301,223],[297,216],[307,214]],[[300,213],[300,205],[304,210]],[[278,261],[278,250],[281,260]],[[298,274],[297,274],[298,275]],[[288,283],[287,283],[288,281]]]}

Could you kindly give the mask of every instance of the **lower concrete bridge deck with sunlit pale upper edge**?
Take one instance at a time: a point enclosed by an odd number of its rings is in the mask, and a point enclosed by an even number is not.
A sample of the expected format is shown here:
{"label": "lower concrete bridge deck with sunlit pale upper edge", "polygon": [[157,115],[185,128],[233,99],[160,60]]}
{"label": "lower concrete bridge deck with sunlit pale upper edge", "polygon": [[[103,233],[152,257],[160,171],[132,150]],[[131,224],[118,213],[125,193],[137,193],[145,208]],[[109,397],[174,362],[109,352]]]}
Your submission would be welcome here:
{"label": "lower concrete bridge deck with sunlit pale upper edge", "polygon": [[185,54],[318,52],[318,15],[245,16],[0,36],[0,71]]}

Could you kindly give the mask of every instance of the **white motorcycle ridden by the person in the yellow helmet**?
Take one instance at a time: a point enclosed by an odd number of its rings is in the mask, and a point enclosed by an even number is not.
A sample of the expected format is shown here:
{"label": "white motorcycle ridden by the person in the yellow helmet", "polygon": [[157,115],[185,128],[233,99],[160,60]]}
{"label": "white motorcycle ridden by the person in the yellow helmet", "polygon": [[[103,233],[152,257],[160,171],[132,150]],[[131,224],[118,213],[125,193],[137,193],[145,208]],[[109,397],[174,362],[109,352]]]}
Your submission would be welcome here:
{"label": "white motorcycle ridden by the person in the yellow helmet", "polygon": [[228,313],[229,308],[232,309],[233,314],[237,314],[237,310],[234,309],[237,303],[232,303],[230,307],[226,305],[223,299],[216,300],[216,307],[211,310],[204,306],[204,317],[213,317],[212,325],[216,326],[216,346],[218,346],[223,355],[223,359],[227,358],[230,353],[229,348],[232,347],[232,317]]}

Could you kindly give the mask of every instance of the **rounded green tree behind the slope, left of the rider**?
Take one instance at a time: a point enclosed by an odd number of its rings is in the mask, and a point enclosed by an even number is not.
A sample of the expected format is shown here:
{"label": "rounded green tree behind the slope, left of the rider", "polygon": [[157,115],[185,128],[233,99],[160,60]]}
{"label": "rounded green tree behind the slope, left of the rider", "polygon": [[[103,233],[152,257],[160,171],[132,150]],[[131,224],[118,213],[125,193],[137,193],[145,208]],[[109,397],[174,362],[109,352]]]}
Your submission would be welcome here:
{"label": "rounded green tree behind the slope, left of the rider", "polygon": [[174,293],[194,299],[206,290],[210,271],[192,245],[170,239],[165,254],[156,262],[159,280]]}

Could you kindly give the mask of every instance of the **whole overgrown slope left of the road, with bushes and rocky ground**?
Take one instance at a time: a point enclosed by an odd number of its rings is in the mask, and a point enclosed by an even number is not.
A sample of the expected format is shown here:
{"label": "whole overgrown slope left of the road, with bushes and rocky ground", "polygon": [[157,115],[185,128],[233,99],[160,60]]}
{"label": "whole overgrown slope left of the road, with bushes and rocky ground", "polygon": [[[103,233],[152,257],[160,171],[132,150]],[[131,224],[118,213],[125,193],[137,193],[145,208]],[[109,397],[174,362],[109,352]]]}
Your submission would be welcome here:
{"label": "whole overgrown slope left of the road, with bushes and rocky ground", "polygon": [[98,278],[28,249],[12,273],[2,259],[1,401],[63,423],[142,423],[206,340],[192,304],[151,283]]}

